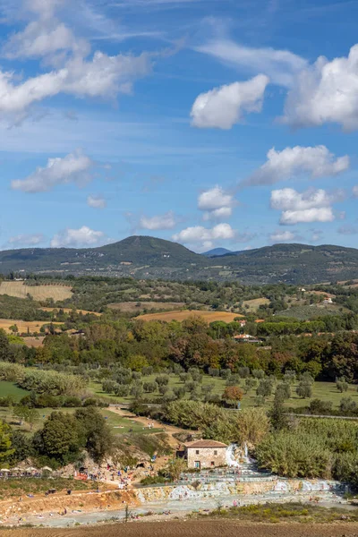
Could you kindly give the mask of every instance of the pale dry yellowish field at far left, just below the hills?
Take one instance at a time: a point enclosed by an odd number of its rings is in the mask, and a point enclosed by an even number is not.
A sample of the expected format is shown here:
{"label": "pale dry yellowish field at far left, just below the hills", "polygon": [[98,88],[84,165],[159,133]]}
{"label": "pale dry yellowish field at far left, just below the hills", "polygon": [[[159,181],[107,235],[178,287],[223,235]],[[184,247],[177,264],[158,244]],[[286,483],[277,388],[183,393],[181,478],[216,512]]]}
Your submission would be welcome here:
{"label": "pale dry yellowish field at far left, just below the hills", "polygon": [[72,288],[67,286],[27,286],[24,282],[2,282],[0,294],[8,294],[17,298],[26,298],[28,294],[34,300],[41,301],[53,298],[55,301],[72,298]]}

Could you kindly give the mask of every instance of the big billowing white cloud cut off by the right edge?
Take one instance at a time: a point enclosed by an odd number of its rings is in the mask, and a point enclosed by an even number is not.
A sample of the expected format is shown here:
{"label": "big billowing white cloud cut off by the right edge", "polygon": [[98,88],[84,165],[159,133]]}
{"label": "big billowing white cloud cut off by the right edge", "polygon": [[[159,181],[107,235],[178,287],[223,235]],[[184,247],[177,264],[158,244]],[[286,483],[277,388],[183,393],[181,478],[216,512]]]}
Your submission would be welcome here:
{"label": "big billowing white cloud cut off by the right edge", "polygon": [[348,56],[315,64],[297,75],[286,99],[282,121],[294,127],[341,124],[346,131],[358,128],[358,45]]}

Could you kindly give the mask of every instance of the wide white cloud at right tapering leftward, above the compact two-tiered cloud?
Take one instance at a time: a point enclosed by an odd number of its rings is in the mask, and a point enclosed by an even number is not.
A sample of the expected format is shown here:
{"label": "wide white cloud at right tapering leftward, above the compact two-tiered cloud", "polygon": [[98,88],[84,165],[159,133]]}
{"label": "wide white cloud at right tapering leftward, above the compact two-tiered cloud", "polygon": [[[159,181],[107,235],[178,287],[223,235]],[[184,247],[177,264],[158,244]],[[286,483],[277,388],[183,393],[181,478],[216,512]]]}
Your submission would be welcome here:
{"label": "wide white cloud at right tapering leftward, above the compact two-tiered cloud", "polygon": [[349,157],[336,158],[325,146],[269,149],[268,160],[251,177],[243,181],[244,186],[273,184],[298,175],[307,174],[312,179],[334,176],[349,168]]}

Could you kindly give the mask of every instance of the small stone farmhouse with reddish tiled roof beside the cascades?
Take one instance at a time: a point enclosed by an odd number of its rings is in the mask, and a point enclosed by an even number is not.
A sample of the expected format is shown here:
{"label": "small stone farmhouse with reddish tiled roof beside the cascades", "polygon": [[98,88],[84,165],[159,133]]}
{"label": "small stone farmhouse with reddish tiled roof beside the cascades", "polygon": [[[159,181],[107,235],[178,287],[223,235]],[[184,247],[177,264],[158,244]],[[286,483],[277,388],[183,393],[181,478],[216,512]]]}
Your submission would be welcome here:
{"label": "small stone farmhouse with reddish tiled roof beside the cascades", "polygon": [[216,468],[226,466],[226,444],[215,440],[196,440],[185,445],[188,468]]}

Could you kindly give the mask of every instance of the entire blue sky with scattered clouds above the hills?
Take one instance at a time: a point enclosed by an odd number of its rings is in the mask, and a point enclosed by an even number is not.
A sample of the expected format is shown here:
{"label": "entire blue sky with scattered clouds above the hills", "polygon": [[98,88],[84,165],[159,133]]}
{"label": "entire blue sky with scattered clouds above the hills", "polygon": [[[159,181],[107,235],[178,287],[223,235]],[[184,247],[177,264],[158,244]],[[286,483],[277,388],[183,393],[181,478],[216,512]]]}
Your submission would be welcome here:
{"label": "entire blue sky with scattered clouds above the hills", "polygon": [[355,247],[357,17],[355,0],[0,0],[0,247]]}

